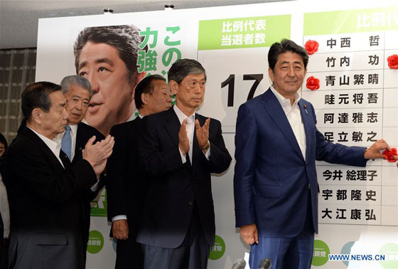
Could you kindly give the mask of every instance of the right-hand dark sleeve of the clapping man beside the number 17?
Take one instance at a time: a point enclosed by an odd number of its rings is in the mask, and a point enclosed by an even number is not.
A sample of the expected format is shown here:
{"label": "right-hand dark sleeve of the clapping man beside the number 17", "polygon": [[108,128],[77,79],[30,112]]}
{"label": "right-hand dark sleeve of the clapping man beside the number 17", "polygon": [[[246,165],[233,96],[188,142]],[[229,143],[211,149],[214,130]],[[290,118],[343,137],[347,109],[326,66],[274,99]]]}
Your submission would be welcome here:
{"label": "right-hand dark sleeve of the clapping man beside the number 17", "polygon": [[[213,135],[213,130],[215,130],[215,135]],[[222,138],[221,123],[218,120],[210,120],[209,141],[210,158],[207,160],[204,154],[202,156],[205,158],[205,162],[208,162],[210,172],[220,174],[230,167],[232,158],[225,147],[225,142]]]}

